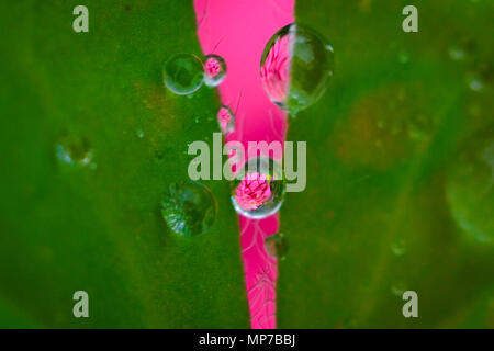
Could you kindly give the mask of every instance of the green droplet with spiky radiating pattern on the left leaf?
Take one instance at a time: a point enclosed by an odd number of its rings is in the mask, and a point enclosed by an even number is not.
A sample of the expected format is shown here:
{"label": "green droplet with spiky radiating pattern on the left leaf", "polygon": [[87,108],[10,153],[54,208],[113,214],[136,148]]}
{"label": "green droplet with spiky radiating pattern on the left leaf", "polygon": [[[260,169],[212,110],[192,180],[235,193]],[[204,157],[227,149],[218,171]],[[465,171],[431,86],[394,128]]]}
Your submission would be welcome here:
{"label": "green droplet with spiky radiating pattern on the left leaf", "polygon": [[194,181],[171,184],[161,202],[165,222],[184,237],[206,233],[216,219],[216,200],[211,191]]}

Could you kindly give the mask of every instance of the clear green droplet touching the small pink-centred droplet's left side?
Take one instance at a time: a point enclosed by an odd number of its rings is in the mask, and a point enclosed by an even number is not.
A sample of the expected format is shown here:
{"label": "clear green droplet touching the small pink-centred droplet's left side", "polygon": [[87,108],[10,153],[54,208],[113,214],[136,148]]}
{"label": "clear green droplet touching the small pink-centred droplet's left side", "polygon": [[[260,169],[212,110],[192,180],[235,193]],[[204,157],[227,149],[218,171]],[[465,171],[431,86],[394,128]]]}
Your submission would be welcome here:
{"label": "clear green droplet touching the small pink-centred droplet's left side", "polygon": [[191,54],[171,56],[164,66],[165,86],[179,95],[191,94],[201,88],[204,72],[201,60]]}

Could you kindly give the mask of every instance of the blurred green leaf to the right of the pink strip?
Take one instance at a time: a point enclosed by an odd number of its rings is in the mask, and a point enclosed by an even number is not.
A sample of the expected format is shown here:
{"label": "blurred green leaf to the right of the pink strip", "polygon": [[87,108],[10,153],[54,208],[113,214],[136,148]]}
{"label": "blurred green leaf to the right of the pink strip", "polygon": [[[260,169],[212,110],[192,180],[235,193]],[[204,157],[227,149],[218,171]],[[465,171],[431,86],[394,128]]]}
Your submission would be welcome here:
{"label": "blurred green leaf to the right of the pink strip", "polygon": [[281,210],[279,327],[494,328],[494,2],[307,0],[295,16],[335,75],[290,124],[307,186]]}

